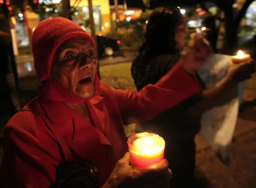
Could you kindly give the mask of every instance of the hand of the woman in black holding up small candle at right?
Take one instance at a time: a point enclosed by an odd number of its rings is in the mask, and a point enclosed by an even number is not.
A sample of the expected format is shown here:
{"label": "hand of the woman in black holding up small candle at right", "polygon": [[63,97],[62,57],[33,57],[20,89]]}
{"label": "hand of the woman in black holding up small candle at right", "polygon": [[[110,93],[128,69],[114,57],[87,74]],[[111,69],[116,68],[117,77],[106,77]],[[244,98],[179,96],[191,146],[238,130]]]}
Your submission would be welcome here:
{"label": "hand of the woman in black holding up small candle at right", "polygon": [[227,77],[231,81],[237,83],[250,79],[253,73],[255,73],[255,63],[250,59],[239,64],[230,63],[227,71]]}

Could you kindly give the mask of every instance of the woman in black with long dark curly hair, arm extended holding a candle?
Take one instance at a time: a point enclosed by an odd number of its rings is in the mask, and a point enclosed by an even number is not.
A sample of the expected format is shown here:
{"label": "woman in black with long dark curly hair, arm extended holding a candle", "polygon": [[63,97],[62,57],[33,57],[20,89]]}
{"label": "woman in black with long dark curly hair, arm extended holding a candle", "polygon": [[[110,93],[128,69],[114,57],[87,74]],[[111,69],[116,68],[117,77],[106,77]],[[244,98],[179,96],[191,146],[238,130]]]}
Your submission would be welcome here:
{"label": "woman in black with long dark curly hair, arm extended holding a candle", "polygon": [[[182,56],[185,36],[186,25],[180,9],[160,7],[153,11],[148,20],[144,42],[131,68],[138,91],[158,83],[181,59],[187,57],[190,52],[189,45],[193,43],[186,46]],[[211,50],[209,42],[205,45],[206,49]],[[194,59],[201,59],[202,51],[195,50],[193,56]],[[195,65],[193,59],[187,60]],[[198,69],[202,64],[196,66]],[[200,116],[217,105],[231,87],[250,78],[254,71],[251,60],[236,65],[231,63],[226,77],[210,89],[205,88],[196,72],[190,73],[203,91],[142,124],[147,132],[157,133],[166,141],[165,158],[173,171],[172,188],[197,187],[194,184],[195,136],[200,130]],[[173,78],[173,81],[187,82],[186,78]],[[169,100],[172,100],[171,96]]]}

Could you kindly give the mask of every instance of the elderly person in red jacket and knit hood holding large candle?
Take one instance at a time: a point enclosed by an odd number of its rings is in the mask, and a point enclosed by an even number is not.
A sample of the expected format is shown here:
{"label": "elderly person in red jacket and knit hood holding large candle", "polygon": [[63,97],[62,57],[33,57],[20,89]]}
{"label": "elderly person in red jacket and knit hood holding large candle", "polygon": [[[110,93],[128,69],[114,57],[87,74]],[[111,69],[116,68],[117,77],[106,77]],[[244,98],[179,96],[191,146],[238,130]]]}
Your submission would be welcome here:
{"label": "elderly person in red jacket and knit hood holding large candle", "polygon": [[[202,41],[203,37],[198,39],[197,48],[207,58],[210,54]],[[38,97],[4,128],[1,187],[50,187],[61,162],[86,158],[97,167],[97,187],[163,187],[168,162],[131,168],[123,125],[131,117],[148,120],[199,93],[189,73],[205,59],[195,59],[192,47],[190,56],[157,84],[138,92],[116,90],[99,81],[94,40],[70,20],[41,21],[34,30],[32,50],[42,85]]]}

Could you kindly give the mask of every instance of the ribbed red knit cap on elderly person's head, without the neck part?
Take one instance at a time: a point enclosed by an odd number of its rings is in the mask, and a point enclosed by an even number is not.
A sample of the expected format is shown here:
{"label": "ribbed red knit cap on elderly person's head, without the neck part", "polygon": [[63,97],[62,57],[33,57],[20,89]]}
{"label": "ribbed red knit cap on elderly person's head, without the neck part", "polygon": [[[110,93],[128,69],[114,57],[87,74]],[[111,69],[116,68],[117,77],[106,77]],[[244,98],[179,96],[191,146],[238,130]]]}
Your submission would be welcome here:
{"label": "ribbed red knit cap on elderly person's head, without the neck part", "polygon": [[[32,36],[32,52],[35,72],[41,82],[50,78],[53,56],[60,44],[76,36],[89,39],[95,47],[93,38],[71,20],[63,17],[52,17],[38,24]],[[96,47],[94,51],[96,54]]]}

